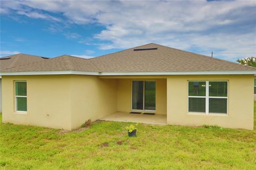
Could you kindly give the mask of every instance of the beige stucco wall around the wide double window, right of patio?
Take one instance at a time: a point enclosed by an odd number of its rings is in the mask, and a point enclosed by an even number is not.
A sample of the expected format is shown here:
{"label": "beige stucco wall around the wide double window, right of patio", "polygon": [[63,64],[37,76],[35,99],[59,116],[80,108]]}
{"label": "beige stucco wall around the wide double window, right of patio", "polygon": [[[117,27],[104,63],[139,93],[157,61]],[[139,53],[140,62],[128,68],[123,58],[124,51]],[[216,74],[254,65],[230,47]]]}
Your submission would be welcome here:
{"label": "beige stucco wall around the wide double window, right of patio", "polygon": [[[228,115],[188,114],[188,80],[228,80]],[[179,75],[167,78],[167,123],[253,129],[253,75]]]}

